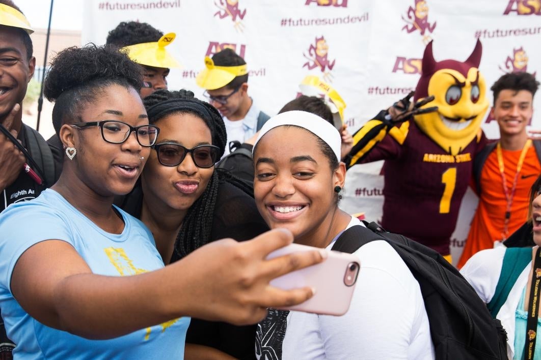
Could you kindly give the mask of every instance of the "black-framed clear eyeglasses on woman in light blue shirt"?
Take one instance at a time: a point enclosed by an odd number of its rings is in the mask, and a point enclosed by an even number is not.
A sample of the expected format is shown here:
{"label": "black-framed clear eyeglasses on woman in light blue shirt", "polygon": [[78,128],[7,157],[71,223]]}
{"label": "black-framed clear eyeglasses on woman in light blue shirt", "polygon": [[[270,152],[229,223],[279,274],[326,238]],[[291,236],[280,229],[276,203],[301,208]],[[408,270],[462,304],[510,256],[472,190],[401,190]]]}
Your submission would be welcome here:
{"label": "black-framed clear eyeglasses on woman in light blue shirt", "polygon": [[160,128],[155,125],[131,126],[117,120],[89,121],[88,123],[77,123],[70,126],[81,129],[99,126],[103,140],[111,144],[122,144],[129,138],[131,132],[135,131],[137,142],[145,147],[154,145],[160,133]]}

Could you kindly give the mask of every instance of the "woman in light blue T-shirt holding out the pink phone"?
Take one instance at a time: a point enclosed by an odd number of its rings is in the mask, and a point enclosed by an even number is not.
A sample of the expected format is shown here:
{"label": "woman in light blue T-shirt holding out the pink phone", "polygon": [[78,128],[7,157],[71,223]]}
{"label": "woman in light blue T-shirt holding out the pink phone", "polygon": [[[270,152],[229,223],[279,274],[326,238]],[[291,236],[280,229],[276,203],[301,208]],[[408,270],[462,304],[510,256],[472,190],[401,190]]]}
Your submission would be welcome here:
{"label": "woman in light blue T-shirt holding out the pink phone", "polygon": [[138,65],[115,49],[72,47],[52,62],[45,95],[56,100],[62,174],[0,215],[0,307],[15,359],[183,358],[189,316],[252,323],[270,303],[312,294],[269,287],[323,257],[264,260],[291,234],[216,241],[164,267],[149,230],[113,206],[159,133],[140,86]]}

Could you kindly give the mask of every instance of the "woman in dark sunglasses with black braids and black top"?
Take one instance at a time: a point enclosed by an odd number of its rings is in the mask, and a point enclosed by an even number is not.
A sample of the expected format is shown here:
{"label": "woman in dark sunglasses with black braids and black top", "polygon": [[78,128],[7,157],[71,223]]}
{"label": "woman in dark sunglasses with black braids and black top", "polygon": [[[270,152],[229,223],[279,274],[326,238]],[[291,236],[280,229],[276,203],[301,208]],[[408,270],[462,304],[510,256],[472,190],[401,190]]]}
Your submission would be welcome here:
{"label": "woman in dark sunglasses with black braids and black top", "polygon": [[[268,230],[252,189],[222,169],[214,169],[227,138],[220,113],[186,90],[159,90],[143,103],[160,134],[140,184],[121,207],[148,226],[164,262],[180,260],[223,237],[243,241]],[[235,358],[254,358],[254,333],[255,326],[193,319],[187,358],[205,352],[220,354],[214,349],[222,351],[222,356],[225,352]]]}

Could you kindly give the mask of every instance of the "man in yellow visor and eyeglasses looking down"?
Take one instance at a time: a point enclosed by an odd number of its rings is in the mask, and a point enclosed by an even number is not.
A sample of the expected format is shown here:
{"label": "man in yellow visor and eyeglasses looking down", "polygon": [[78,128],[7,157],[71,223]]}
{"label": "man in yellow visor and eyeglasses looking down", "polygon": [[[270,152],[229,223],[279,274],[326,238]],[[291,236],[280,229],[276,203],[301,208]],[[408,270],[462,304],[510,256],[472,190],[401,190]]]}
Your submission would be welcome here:
{"label": "man in yellow visor and eyeglasses looking down", "polygon": [[[245,60],[231,49],[206,57],[205,69],[195,79],[205,89],[204,96],[222,115],[227,144],[245,142],[261,129],[269,116],[248,96],[248,70]],[[226,146],[225,157],[229,154]],[[223,157],[222,157],[223,158]]]}

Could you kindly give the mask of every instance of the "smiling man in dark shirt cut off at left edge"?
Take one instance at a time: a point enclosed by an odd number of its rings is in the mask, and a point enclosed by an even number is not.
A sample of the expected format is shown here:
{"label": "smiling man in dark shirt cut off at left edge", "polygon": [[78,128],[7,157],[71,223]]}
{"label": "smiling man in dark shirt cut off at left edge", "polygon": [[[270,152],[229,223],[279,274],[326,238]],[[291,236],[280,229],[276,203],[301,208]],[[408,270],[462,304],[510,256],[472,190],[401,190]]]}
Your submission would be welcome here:
{"label": "smiling man in dark shirt cut off at left edge", "polygon": [[[34,32],[21,9],[9,0],[0,1],[0,124],[13,138],[17,139],[27,155],[0,132],[0,212],[12,203],[36,198],[46,187],[58,179],[52,158],[62,159],[62,154],[53,155],[43,137],[22,121],[22,103],[27,85],[36,67],[32,55],[33,46],[30,33]],[[34,160],[34,162],[32,162]],[[50,160],[50,161],[46,161]],[[32,179],[23,171],[30,164],[39,179]],[[47,165],[47,168],[44,167]],[[38,165],[38,166],[36,166]],[[47,174],[47,176],[45,175]],[[11,358],[15,345],[5,334],[4,323],[0,317],[0,358]]]}

